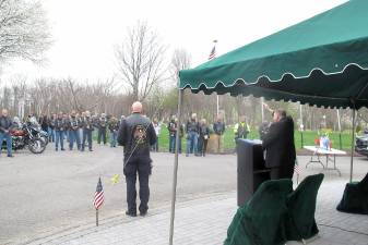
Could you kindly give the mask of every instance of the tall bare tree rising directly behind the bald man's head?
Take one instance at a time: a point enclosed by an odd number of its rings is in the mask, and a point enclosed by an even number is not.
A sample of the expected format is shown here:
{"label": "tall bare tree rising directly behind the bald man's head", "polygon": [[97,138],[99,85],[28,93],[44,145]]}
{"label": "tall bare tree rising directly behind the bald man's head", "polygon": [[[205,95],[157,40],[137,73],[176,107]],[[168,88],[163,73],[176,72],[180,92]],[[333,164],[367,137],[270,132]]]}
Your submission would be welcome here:
{"label": "tall bare tree rising directly behind the bald man's head", "polygon": [[134,100],[144,100],[154,85],[165,79],[166,47],[146,23],[129,28],[126,40],[116,47],[118,74]]}

